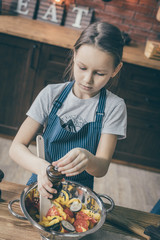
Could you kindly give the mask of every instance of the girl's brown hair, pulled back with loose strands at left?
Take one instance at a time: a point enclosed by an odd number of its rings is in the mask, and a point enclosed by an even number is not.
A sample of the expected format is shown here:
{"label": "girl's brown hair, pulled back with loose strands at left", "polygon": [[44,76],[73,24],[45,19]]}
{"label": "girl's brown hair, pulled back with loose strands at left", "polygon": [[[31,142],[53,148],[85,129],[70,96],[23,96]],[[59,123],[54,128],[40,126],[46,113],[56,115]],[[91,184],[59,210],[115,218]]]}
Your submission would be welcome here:
{"label": "girl's brown hair, pulled back with loose strands at left", "polygon": [[124,39],[121,31],[107,22],[92,23],[83,30],[71,52],[71,60],[64,72],[64,77],[69,81],[73,78],[74,51],[77,52],[84,44],[95,46],[111,54],[115,68],[122,60]]}

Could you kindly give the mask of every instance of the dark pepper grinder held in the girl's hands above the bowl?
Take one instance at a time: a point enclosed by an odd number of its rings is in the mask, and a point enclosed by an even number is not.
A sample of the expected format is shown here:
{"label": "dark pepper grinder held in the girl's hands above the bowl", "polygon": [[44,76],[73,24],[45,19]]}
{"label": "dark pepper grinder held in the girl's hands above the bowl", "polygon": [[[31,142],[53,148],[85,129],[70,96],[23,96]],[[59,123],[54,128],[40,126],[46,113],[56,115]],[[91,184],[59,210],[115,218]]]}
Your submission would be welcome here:
{"label": "dark pepper grinder held in the girl's hands above the bowl", "polygon": [[53,165],[49,165],[46,169],[48,179],[53,184],[53,188],[57,190],[57,193],[52,193],[53,199],[57,198],[62,190],[62,179],[64,178],[64,174],[58,172],[58,168],[54,167]]}

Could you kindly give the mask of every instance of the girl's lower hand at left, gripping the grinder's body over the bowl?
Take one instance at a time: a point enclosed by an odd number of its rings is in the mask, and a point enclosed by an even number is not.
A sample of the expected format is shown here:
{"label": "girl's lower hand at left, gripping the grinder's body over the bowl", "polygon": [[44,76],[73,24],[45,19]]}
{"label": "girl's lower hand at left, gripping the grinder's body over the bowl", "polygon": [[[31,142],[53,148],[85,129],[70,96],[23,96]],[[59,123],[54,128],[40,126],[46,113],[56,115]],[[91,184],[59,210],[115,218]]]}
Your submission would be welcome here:
{"label": "girl's lower hand at left, gripping the grinder's body over the bowl", "polygon": [[52,193],[57,193],[57,190],[52,188],[53,184],[49,181],[46,168],[49,164],[46,162],[41,167],[41,172],[38,174],[38,191],[39,193],[46,198],[52,198]]}

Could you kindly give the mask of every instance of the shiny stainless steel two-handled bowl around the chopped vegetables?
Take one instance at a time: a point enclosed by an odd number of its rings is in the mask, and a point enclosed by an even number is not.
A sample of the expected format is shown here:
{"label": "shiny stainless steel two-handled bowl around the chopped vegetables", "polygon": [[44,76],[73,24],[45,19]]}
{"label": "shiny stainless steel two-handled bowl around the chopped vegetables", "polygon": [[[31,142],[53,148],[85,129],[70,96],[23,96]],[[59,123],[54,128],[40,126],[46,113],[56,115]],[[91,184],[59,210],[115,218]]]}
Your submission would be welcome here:
{"label": "shiny stainless steel two-handled bowl around the chopped vegetables", "polygon": [[[26,204],[25,204],[27,195],[30,193],[31,190],[33,190],[34,188],[37,188],[37,183],[35,183],[31,186],[27,186],[23,190],[23,192],[20,196],[20,199],[15,199],[15,200],[10,201],[8,204],[9,211],[15,217],[17,217],[19,219],[29,220],[30,223],[39,231],[42,238],[46,239],[46,240],[51,240],[51,239],[56,239],[56,240],[74,239],[75,240],[75,239],[80,239],[88,234],[92,234],[92,233],[96,232],[104,224],[107,213],[113,209],[113,207],[114,207],[113,199],[107,195],[103,195],[103,194],[98,195],[91,189],[84,187],[83,185],[78,184],[73,181],[64,181],[64,182],[62,182],[62,185],[63,185],[62,189],[67,190],[67,191],[69,191],[68,189],[70,189],[69,186],[71,185],[72,190],[70,190],[70,194],[72,195],[72,198],[79,198],[82,201],[82,203],[86,204],[88,209],[92,209],[92,210],[100,213],[101,219],[92,229],[89,229],[88,231],[82,232],[82,233],[60,233],[60,232],[56,232],[56,231],[52,231],[52,232],[46,231],[46,229],[43,226],[38,224],[30,216],[30,214],[28,213],[28,211],[26,209]],[[105,198],[110,201],[111,206],[109,209],[105,209],[101,198]],[[22,210],[24,216],[20,216],[13,211],[12,205],[15,202],[20,202],[20,207],[21,207],[21,210]]]}

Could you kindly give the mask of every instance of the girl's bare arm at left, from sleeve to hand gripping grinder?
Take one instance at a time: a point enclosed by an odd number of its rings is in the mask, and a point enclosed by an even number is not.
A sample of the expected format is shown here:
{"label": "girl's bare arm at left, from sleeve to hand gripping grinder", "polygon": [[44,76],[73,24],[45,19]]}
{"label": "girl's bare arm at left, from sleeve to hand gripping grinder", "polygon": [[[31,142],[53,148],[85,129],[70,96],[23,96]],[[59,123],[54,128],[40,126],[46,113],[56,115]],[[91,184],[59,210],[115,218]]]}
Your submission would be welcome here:
{"label": "girl's bare arm at left, from sleeve to hand gripping grinder", "polygon": [[46,189],[55,192],[51,186],[51,182],[46,176],[46,168],[49,165],[47,161],[34,155],[28,146],[38,132],[41,125],[30,117],[21,125],[17,135],[15,136],[9,150],[10,157],[23,168],[38,175],[38,190],[43,196],[52,197]]}

